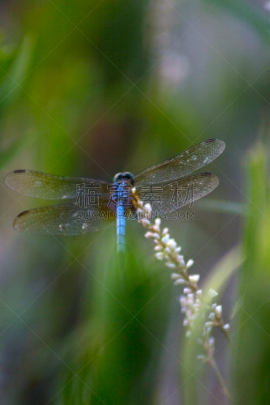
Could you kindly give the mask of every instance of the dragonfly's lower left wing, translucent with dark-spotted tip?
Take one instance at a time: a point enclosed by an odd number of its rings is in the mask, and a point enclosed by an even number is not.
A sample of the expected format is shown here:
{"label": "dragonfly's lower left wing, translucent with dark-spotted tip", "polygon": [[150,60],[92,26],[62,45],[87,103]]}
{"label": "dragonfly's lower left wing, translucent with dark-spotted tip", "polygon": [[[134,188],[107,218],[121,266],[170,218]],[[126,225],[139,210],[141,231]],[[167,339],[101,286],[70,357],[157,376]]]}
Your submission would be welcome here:
{"label": "dragonfly's lower left wing, translucent with dark-spotted tip", "polygon": [[13,227],[31,234],[82,235],[106,229],[111,219],[112,213],[106,208],[101,213],[101,209],[80,209],[75,204],[61,204],[24,211],[15,218]]}

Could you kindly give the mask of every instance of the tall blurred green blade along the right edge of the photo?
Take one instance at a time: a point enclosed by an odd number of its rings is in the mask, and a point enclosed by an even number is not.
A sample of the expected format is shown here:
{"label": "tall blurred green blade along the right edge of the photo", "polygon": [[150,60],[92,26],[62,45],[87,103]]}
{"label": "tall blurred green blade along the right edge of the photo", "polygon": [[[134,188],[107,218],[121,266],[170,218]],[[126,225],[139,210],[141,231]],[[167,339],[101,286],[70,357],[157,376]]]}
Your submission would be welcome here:
{"label": "tall blurred green blade along the right edge of the photo", "polygon": [[[269,351],[269,154],[258,143],[245,165],[247,220],[244,227],[245,263],[239,278],[240,300],[234,341],[236,403],[266,405],[270,395]],[[239,389],[241,385],[241,390]]]}

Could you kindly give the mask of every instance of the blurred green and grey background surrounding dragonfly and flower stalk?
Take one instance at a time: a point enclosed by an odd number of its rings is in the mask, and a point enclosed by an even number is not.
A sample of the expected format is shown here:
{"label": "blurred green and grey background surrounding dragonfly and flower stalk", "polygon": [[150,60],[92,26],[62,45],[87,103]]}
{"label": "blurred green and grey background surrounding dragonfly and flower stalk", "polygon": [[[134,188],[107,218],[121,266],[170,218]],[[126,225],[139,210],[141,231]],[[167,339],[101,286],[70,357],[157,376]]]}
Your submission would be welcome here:
{"label": "blurred green and grey background surrounding dragonfly and flower stalk", "polygon": [[226,142],[206,168],[220,185],[195,204],[196,221],[166,226],[203,278],[240,245],[244,264],[232,276],[228,261],[218,297],[225,320],[234,314],[233,354],[217,333],[216,359],[235,403],[268,403],[269,10],[0,1],[1,404],[230,403],[211,370],[185,367],[181,289],[139,224],[128,224],[121,272],[113,226],[17,234],[15,216],[48,201],[4,184],[15,169],[109,181],[208,138]]}

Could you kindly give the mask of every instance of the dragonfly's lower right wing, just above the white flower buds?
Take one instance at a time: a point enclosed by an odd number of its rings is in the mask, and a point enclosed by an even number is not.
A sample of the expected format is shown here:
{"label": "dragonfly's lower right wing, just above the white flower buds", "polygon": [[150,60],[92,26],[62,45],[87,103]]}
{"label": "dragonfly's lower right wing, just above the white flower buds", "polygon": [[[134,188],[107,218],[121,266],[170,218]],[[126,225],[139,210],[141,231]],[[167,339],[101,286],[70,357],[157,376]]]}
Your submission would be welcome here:
{"label": "dragonfly's lower right wing, just above the white flower buds", "polygon": [[174,180],[159,189],[145,190],[136,187],[138,197],[144,203],[150,203],[152,212],[172,212],[191,204],[213,191],[219,184],[218,177],[211,173],[199,173],[194,176]]}

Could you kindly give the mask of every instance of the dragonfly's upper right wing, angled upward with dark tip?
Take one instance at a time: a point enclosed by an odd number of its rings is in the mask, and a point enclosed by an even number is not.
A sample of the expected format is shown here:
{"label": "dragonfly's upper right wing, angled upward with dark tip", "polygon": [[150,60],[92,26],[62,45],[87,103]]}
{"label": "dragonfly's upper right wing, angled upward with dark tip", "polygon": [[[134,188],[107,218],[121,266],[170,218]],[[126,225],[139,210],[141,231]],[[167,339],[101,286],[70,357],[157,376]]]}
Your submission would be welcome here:
{"label": "dragonfly's upper right wing, angled upward with dark tip", "polygon": [[134,177],[134,185],[137,187],[142,183],[167,183],[188,176],[195,170],[211,163],[223,152],[224,148],[225,143],[223,141],[208,139],[159,165],[140,172]]}

